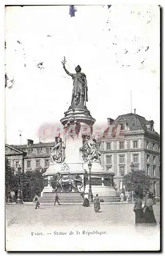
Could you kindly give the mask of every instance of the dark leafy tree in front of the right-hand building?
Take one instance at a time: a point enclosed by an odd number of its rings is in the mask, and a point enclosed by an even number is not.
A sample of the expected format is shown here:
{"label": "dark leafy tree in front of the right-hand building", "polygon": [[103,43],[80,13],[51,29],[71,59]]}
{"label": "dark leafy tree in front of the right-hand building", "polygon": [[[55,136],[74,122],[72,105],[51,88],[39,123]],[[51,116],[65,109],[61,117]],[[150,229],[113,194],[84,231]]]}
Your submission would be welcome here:
{"label": "dark leafy tree in front of the right-hand building", "polygon": [[[133,171],[133,182],[134,191],[140,194],[143,194],[144,187],[149,189],[152,184],[150,176],[145,175],[143,170]],[[123,184],[127,191],[131,191],[132,173],[128,173],[123,177]]]}

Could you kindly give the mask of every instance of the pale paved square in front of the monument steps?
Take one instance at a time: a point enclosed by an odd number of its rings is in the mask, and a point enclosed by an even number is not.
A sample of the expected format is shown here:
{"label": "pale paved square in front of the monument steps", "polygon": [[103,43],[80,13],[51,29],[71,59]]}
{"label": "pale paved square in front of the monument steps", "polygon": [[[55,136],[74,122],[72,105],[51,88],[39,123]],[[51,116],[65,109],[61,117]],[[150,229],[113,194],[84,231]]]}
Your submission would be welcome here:
{"label": "pale paved square in front of the monument steps", "polygon": [[[103,204],[99,213],[95,213],[93,205],[83,207],[81,205],[40,205],[35,209],[35,205],[7,205],[6,216],[7,225],[63,225],[64,223],[93,223],[97,220],[98,224],[134,224],[135,214],[133,204]],[[159,204],[153,206],[154,215],[159,223],[160,209]]]}

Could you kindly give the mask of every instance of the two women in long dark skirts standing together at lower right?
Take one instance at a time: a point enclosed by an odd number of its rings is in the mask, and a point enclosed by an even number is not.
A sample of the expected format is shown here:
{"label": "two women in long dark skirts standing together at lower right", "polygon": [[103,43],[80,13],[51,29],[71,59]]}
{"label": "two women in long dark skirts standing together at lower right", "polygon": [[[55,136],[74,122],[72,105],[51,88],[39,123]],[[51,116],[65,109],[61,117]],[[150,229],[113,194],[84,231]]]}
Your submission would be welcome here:
{"label": "two women in long dark skirts standing together at lower right", "polygon": [[135,212],[135,224],[149,224],[156,226],[156,220],[152,206],[156,204],[153,193],[148,191],[146,195],[145,205],[142,207],[143,195],[137,194],[133,211]]}

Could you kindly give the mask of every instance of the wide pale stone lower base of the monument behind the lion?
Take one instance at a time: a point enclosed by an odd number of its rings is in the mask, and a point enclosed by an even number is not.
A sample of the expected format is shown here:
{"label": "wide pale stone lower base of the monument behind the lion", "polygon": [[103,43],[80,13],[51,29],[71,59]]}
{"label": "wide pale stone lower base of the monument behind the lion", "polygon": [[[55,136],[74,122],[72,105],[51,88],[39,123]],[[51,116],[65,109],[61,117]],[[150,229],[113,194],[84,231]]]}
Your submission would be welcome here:
{"label": "wide pale stone lower base of the monument behind the lion", "polygon": [[[110,200],[111,198],[112,199],[115,198],[115,200],[120,201],[120,198],[117,197],[117,192],[113,187],[114,173],[105,172],[99,160],[92,160],[91,164],[92,164],[92,167],[90,171],[90,178],[91,178],[91,189],[92,189],[93,197],[95,197],[96,194],[99,194],[99,197],[101,198],[106,198],[107,200]],[[81,190],[80,190],[80,186],[78,186],[78,191],[89,193],[88,163],[87,162],[86,163],[84,162],[67,163],[67,168],[63,168],[63,164],[58,164],[58,163],[50,164],[50,167],[43,174],[44,179],[48,181],[48,185],[45,186],[44,189],[42,190],[41,197],[43,197],[44,195],[48,195],[48,193],[54,194],[54,192],[56,192],[54,190],[56,186],[54,187],[53,183],[51,183],[52,182],[51,178],[57,172],[61,173],[64,178],[68,176],[68,172],[69,172],[68,178],[74,175],[81,176],[81,180],[84,185],[83,187],[81,187]],[[65,192],[68,192],[65,194],[70,193],[69,190]],[[76,193],[76,192],[77,191],[74,191],[73,189],[71,193]],[[60,188],[57,189],[57,193],[61,193]]]}

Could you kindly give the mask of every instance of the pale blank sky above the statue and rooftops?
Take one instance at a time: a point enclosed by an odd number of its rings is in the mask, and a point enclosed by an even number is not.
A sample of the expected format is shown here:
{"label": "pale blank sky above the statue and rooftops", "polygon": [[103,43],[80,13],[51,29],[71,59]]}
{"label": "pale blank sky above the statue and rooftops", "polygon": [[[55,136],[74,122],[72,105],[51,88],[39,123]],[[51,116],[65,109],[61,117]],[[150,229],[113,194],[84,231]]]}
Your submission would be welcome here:
{"label": "pale blank sky above the statue and rooftops", "polygon": [[37,143],[42,125],[64,117],[73,88],[64,56],[70,73],[80,65],[86,74],[96,125],[130,113],[132,94],[132,112],[154,120],[160,133],[159,7],[76,8],[75,17],[68,6],[6,8],[6,73],[14,79],[6,88],[8,144],[20,143],[19,131],[22,144]]}

